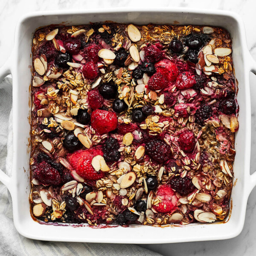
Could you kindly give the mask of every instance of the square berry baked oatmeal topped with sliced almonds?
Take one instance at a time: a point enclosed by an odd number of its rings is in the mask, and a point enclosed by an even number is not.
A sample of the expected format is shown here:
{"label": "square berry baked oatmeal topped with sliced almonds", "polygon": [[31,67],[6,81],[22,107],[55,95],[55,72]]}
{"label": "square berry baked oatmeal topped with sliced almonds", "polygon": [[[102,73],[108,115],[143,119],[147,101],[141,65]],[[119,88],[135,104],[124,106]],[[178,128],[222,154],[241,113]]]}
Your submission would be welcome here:
{"label": "square berry baked oatmeal topped with sliced almonds", "polygon": [[47,26],[32,46],[32,215],[92,226],[222,221],[238,106],[209,26]]}

